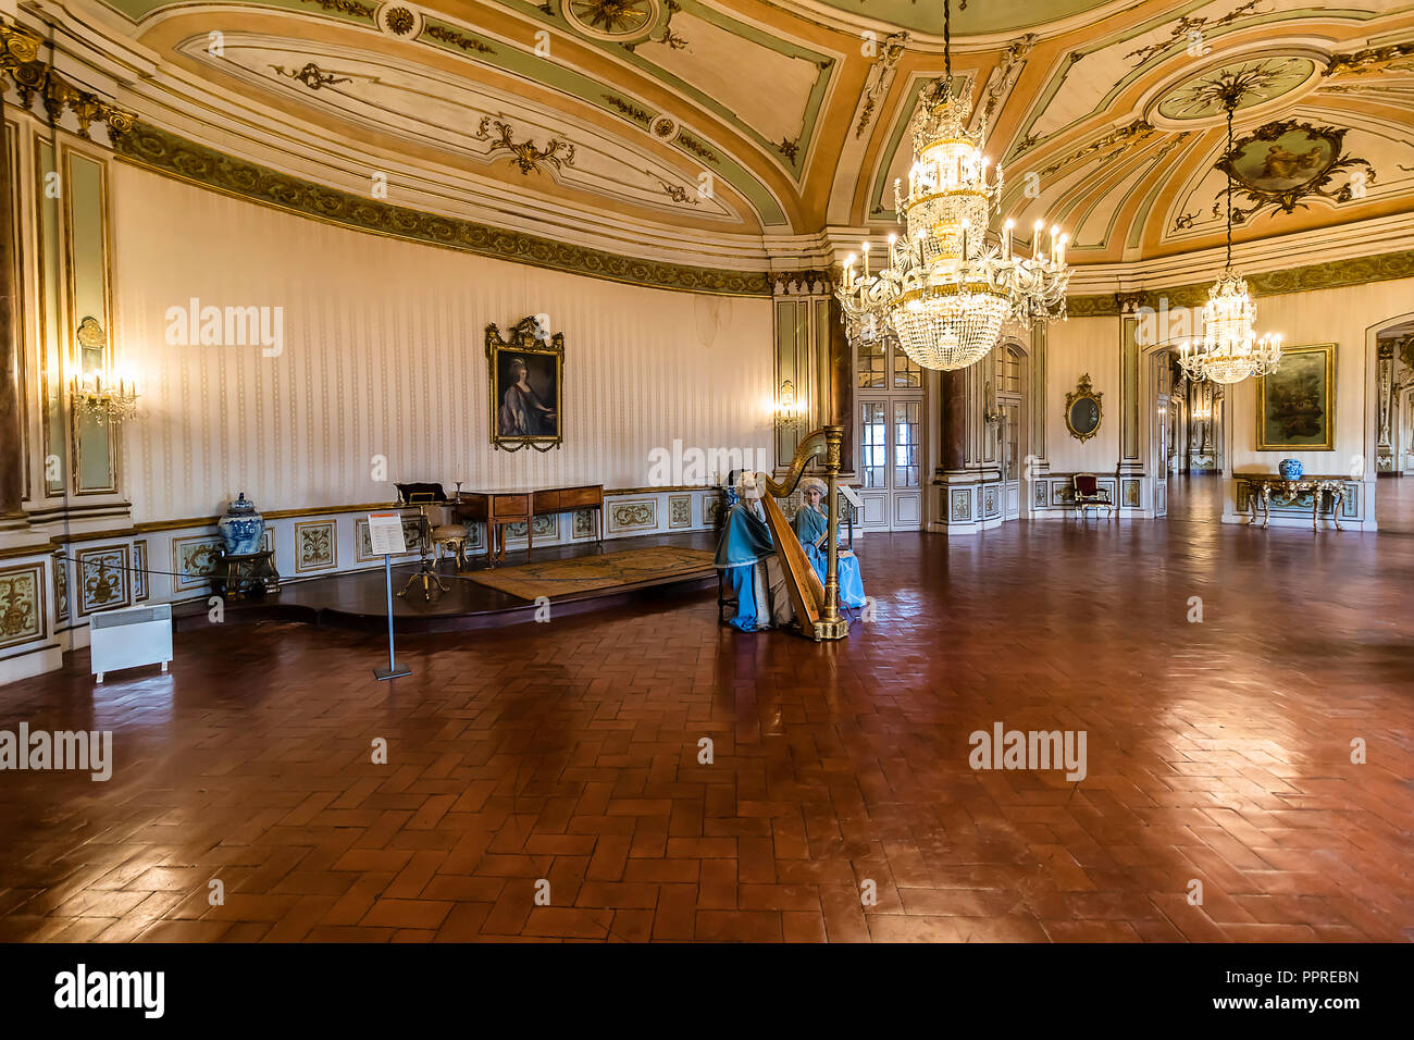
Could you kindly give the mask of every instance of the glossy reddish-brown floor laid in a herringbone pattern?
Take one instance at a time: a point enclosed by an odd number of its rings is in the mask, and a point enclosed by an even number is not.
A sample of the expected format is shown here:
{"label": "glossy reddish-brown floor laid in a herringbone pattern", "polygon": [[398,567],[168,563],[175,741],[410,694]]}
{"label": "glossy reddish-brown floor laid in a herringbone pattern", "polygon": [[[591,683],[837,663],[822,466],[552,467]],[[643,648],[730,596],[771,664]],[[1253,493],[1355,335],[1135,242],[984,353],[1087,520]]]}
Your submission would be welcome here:
{"label": "glossy reddish-brown floor laid in a herringbone pattern", "polygon": [[[860,556],[877,617],[837,645],[699,596],[404,638],[392,685],[378,638],[297,624],[98,688],[76,654],[0,729],[112,729],[113,778],[0,773],[0,938],[1414,938],[1414,539],[1179,515]],[[974,771],[995,722],[1085,730],[1087,775]]]}

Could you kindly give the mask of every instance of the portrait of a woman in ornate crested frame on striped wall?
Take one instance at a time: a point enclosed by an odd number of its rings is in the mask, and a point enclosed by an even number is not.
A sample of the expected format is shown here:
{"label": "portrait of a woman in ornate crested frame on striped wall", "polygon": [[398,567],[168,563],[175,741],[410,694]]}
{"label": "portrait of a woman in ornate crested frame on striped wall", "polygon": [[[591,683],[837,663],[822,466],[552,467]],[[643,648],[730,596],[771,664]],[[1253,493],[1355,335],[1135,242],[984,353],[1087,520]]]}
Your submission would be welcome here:
{"label": "portrait of a woman in ornate crested frame on striped wall", "polygon": [[486,325],[491,381],[491,443],[506,451],[549,451],[563,440],[564,333],[550,334],[549,318],[522,318],[502,340]]}

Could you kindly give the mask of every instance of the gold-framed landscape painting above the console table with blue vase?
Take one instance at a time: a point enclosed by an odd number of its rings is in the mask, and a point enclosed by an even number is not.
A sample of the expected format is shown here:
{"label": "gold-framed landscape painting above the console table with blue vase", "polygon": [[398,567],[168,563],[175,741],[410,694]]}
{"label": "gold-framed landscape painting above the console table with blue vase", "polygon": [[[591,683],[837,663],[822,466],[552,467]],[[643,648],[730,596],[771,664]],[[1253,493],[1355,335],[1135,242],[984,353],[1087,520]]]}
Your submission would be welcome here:
{"label": "gold-framed landscape painting above the console table with blue vase", "polygon": [[1335,450],[1333,342],[1288,347],[1257,379],[1257,450]]}

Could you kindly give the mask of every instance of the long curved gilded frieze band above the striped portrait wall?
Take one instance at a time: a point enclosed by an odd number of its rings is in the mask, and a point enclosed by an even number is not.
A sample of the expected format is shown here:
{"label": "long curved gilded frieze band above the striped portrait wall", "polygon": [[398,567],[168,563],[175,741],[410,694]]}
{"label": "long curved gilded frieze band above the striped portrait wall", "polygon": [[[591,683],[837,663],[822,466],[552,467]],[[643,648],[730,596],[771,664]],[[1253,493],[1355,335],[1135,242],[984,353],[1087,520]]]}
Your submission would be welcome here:
{"label": "long curved gilded frieze band above the striped portrait wall", "polygon": [[684,293],[771,296],[766,272],[641,260],[455,216],[426,214],[232,158],[143,122],[137,122],[130,133],[119,139],[116,151],[123,158],[170,177],[359,231],[609,282]]}

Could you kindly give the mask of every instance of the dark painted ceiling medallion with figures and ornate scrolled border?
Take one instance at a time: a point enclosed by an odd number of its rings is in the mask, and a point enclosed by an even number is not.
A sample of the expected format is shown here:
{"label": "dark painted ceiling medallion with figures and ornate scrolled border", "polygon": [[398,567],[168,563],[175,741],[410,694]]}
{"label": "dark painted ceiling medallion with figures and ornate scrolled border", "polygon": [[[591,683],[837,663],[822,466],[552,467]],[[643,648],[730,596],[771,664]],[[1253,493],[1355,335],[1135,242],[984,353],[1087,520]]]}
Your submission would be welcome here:
{"label": "dark painted ceiling medallion with figures and ornate scrolled border", "polygon": [[[1217,194],[1213,212],[1229,192],[1234,195],[1233,224],[1266,207],[1295,212],[1297,207],[1307,208],[1308,198],[1350,201],[1355,181],[1374,183],[1374,167],[1366,158],[1342,154],[1345,134],[1345,129],[1282,120],[1240,139],[1217,161],[1233,183]],[[1336,188],[1332,181],[1342,173],[1350,180]]]}

